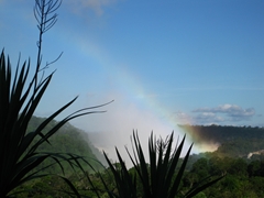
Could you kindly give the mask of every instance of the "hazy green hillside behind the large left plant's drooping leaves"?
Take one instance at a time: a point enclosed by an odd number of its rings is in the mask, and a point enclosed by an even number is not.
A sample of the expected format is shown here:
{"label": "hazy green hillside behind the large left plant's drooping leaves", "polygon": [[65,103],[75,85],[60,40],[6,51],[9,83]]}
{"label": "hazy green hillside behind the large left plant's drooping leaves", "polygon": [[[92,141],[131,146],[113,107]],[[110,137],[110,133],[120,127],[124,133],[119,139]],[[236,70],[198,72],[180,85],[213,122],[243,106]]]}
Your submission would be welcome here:
{"label": "hazy green hillside behind the large left plant's drooping leaves", "polygon": [[[45,119],[33,117],[28,127],[28,131],[33,131],[37,128],[40,123],[42,123]],[[56,121],[53,120],[43,131],[45,133],[48,129],[52,129],[56,124]],[[38,151],[42,152],[53,152],[53,153],[72,153],[80,156],[85,156],[86,160],[96,168],[100,169],[102,166],[98,163],[98,158],[102,158],[101,152],[96,148],[88,139],[87,133],[84,131],[73,127],[70,123],[66,123],[62,127],[57,133],[55,133],[50,139],[51,145],[48,143],[44,143],[38,147]],[[46,160],[41,166],[44,167],[48,164],[53,163],[52,160]],[[103,162],[101,162],[103,163]],[[89,169],[89,166],[82,164],[86,169]],[[66,172],[70,170],[70,167],[66,165]],[[58,173],[59,167],[48,168],[46,172],[48,173]]]}

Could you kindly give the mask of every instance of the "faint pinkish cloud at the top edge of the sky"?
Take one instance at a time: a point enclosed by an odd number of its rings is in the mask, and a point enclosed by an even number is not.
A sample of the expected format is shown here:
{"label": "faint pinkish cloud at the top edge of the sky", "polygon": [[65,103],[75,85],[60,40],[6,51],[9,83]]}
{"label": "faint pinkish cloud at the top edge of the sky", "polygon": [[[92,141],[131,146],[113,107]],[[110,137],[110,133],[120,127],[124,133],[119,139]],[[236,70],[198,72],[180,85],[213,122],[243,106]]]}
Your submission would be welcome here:
{"label": "faint pinkish cloud at the top edge of the sky", "polygon": [[96,15],[100,16],[103,14],[105,8],[114,4],[117,0],[68,0],[67,2],[75,12],[92,10]]}

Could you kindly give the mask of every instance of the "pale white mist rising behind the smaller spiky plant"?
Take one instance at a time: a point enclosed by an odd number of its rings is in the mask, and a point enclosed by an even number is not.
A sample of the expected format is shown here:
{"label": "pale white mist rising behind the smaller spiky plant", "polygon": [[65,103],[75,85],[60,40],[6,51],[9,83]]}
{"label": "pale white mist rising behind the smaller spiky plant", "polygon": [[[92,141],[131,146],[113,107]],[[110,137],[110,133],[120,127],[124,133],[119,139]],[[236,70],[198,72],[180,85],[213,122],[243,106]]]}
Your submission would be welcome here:
{"label": "pale white mist rising behind the smaller spiky plant", "polygon": [[[165,139],[174,131],[175,144],[177,138],[179,140],[184,138],[184,132],[178,129],[177,124],[173,125],[164,118],[156,116],[151,109],[123,100],[123,97],[120,96],[111,95],[107,97],[107,100],[110,101],[110,98],[114,98],[114,102],[105,107],[107,112],[81,117],[72,123],[86,131],[90,142],[100,151],[105,151],[112,161],[117,161],[116,147],[118,147],[125,163],[131,165],[125,147],[132,152],[133,131],[139,134],[146,157],[148,138],[152,132],[156,139]],[[187,139],[184,155],[189,146],[190,143]]]}

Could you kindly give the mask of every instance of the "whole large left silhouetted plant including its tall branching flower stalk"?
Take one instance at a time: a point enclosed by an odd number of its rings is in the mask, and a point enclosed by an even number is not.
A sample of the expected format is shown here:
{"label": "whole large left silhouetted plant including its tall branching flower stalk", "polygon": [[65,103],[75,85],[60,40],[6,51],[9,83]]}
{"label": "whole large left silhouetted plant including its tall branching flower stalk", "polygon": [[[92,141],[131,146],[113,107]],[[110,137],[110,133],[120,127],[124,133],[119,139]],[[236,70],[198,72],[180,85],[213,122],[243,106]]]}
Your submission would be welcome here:
{"label": "whole large left silhouetted plant including its tall branching flower stalk", "polygon": [[[82,156],[70,153],[38,152],[37,147],[44,142],[50,143],[48,139],[69,120],[85,114],[103,112],[94,111],[92,109],[105,105],[80,109],[57,122],[46,133],[43,133],[44,128],[67,109],[77,99],[76,97],[45,119],[34,131],[26,132],[29,121],[54,75],[52,73],[44,77],[44,70],[56,61],[47,63],[41,68],[42,35],[56,23],[57,14],[53,13],[59,8],[61,2],[58,0],[35,0],[34,13],[38,22],[40,38],[37,42],[37,63],[32,78],[29,77],[30,61],[24,62],[21,68],[20,63],[18,63],[13,75],[10,59],[6,59],[3,51],[0,56],[0,197],[12,197],[18,193],[13,190],[22,184],[47,176],[48,174],[42,174],[42,170],[53,164],[33,170],[46,158],[53,158],[54,164],[59,165],[63,173],[62,162],[68,163],[74,169],[76,167],[81,168],[79,161],[86,162]],[[53,15],[50,16],[50,14]],[[38,79],[40,72],[42,72],[42,76]],[[74,195],[79,196],[70,180],[64,176],[58,177],[68,184]]]}

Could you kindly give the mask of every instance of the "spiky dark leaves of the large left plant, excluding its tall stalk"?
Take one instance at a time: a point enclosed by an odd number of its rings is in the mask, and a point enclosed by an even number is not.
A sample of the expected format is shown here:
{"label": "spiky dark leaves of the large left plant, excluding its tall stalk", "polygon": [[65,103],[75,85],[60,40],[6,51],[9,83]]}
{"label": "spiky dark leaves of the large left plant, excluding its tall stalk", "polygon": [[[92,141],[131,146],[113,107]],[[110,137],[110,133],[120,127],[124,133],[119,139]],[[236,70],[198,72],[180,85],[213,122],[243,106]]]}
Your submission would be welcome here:
{"label": "spiky dark leaves of the large left plant, excluding its tall stalk", "polygon": [[[33,80],[26,87],[29,70],[30,64],[25,62],[20,70],[16,67],[13,77],[11,75],[10,61],[6,61],[2,52],[0,56],[0,197],[8,196],[15,187],[25,182],[45,176],[41,175],[42,169],[33,173],[31,170],[47,157],[53,158],[61,166],[62,170],[64,168],[61,161],[68,162],[72,167],[80,167],[78,160],[85,161],[84,157],[69,153],[66,155],[62,153],[40,153],[37,147],[44,142],[50,143],[48,139],[69,120],[84,114],[100,112],[88,110],[101,106],[78,110],[57,122],[54,128],[44,134],[42,132],[43,129],[56,116],[69,107],[76,100],[75,98],[50,116],[35,131],[26,132],[28,124],[53,77],[53,74],[48,75],[36,87],[36,90],[32,91]],[[64,179],[70,184],[66,178]]]}

